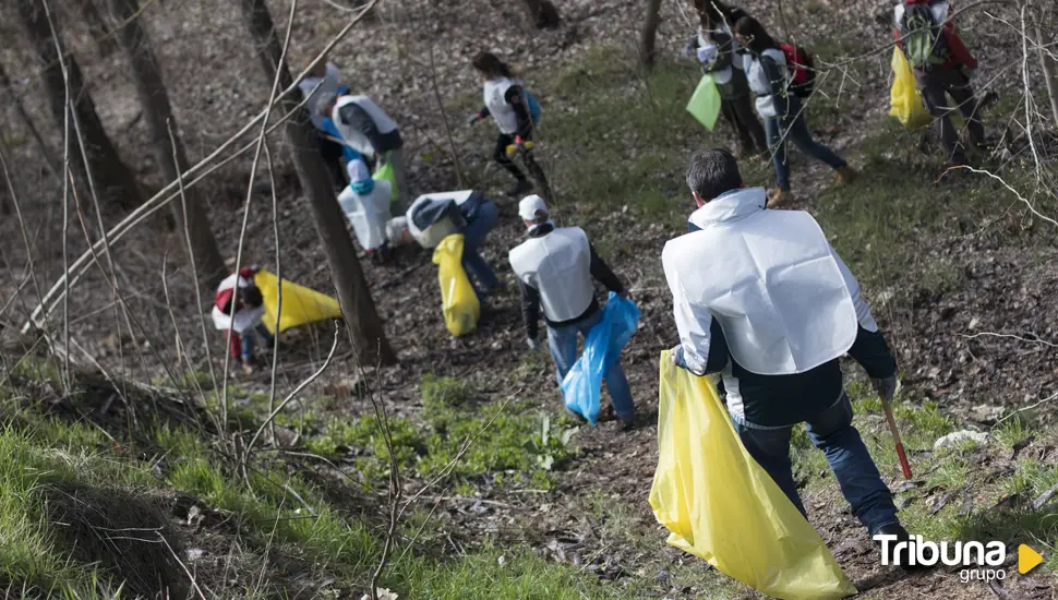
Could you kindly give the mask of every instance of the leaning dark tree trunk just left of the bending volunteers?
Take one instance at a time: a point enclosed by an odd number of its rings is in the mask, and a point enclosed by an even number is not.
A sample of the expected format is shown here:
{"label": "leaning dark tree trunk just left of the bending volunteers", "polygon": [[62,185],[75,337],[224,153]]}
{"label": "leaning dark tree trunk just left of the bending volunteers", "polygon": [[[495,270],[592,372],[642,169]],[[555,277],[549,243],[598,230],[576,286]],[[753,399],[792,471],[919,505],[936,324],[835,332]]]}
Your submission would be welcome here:
{"label": "leaning dark tree trunk just left of the bending volunteers", "polygon": [[[273,81],[278,73],[279,88],[289,87],[293,77],[281,61],[282,46],[276,36],[265,0],[239,0],[239,4],[268,80]],[[371,290],[368,289],[368,281],[357,260],[357,251],[346,229],[345,215],[335,202],[332,177],[320,157],[309,113],[304,107],[297,107],[297,103],[289,97],[278,108],[284,113],[298,111],[298,115],[287,120],[284,132],[293,152],[294,168],[298,170],[301,188],[309,196],[316,233],[327,255],[330,277],[338,291],[338,303],[341,304],[341,313],[352,332],[360,360],[368,365],[394,364],[397,358],[386,340],[382,321],[371,299]]]}

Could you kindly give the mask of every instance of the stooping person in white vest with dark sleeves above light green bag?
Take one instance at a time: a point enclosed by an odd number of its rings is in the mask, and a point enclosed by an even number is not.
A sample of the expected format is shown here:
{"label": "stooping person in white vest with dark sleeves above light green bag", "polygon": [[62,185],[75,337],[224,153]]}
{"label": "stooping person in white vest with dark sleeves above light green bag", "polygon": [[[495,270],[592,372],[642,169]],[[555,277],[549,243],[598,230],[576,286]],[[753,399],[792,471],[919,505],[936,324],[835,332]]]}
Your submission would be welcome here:
{"label": "stooping person in white vest with dark sleeves above light green bag", "polygon": [[382,163],[393,165],[397,180],[398,213],[408,206],[408,176],[400,129],[378,105],[366,96],[340,94],[327,105],[330,120],[346,144],[359,152],[377,170]]}

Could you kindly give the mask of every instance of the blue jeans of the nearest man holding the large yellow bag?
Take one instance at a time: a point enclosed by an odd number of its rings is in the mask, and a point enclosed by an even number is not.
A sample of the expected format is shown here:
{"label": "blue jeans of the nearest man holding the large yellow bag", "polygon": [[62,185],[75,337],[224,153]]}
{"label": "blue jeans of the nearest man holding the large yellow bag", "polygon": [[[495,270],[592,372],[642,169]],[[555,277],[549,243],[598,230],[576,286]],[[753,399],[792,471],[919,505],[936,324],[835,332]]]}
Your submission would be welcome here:
{"label": "blue jeans of the nearest man holding the large yellow bag", "polygon": [[[742,437],[749,455],[759,464],[786,497],[807,518],[805,505],[797,493],[790,460],[790,432],[793,425],[776,429],[756,429],[737,417],[732,417],[735,431]],[[878,473],[859,432],[852,427],[852,404],[849,396],[818,416],[809,419],[808,439],[827,455],[830,469],[838,478],[841,493],[852,505],[852,514],[871,535],[885,525],[899,523],[892,493]]]}

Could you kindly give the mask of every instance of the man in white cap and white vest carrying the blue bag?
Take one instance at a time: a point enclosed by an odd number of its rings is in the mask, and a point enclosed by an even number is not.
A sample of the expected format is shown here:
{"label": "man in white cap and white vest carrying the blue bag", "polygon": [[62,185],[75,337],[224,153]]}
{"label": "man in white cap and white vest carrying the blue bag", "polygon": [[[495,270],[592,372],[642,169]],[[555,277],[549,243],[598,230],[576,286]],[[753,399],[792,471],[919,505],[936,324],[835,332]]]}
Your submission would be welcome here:
{"label": "man in white cap and white vest carrying the blue bag", "polygon": [[[561,386],[577,361],[577,334],[587,338],[588,332],[602,320],[591,278],[621,296],[626,292],[617,276],[596,253],[584,229],[556,228],[540,196],[522,199],[518,215],[529,228],[529,239],[513,249],[508,259],[521,289],[528,344],[532,351],[540,348],[539,321],[543,309],[548,346]],[[604,377],[613,411],[624,429],[630,429],[636,407],[620,359]]]}

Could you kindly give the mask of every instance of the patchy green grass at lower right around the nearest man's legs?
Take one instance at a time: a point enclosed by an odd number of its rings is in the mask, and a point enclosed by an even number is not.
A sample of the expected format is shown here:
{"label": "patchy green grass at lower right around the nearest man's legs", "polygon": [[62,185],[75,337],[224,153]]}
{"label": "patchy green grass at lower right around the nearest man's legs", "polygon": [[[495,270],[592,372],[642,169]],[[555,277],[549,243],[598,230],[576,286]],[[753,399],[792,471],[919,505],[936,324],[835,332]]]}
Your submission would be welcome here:
{"label": "patchy green grass at lower right around the nearest man's legs", "polygon": [[[1058,574],[1058,497],[1033,506],[1058,484],[1058,466],[1035,454],[1058,442],[1054,428],[1035,423],[1031,413],[1015,413],[984,430],[989,437],[983,444],[963,441],[935,449],[938,439],[963,427],[935,403],[894,401],[893,417],[912,467],[907,482],[877,395],[862,382],[853,382],[849,392],[854,425],[897,492],[900,518],[910,531],[935,541],[999,540],[1010,552],[1027,543],[1047,553],[1042,571]],[[792,447],[802,494],[840,496],[826,457],[813,446],[804,425],[795,429]],[[1018,456],[1012,459],[1015,447]]]}

